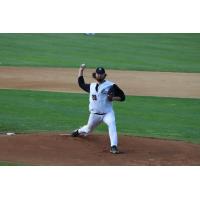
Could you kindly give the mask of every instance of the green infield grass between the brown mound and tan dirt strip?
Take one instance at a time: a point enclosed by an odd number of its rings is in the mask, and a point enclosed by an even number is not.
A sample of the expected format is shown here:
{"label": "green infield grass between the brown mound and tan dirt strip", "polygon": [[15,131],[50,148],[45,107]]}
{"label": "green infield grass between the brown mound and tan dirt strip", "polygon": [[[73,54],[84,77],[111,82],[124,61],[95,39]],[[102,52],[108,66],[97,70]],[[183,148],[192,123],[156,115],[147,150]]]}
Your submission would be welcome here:
{"label": "green infield grass between the brown mound and tan dirt strip", "polygon": [[[84,94],[0,90],[0,105],[0,132],[69,132],[88,119]],[[114,107],[119,133],[200,143],[198,99],[128,96]]]}

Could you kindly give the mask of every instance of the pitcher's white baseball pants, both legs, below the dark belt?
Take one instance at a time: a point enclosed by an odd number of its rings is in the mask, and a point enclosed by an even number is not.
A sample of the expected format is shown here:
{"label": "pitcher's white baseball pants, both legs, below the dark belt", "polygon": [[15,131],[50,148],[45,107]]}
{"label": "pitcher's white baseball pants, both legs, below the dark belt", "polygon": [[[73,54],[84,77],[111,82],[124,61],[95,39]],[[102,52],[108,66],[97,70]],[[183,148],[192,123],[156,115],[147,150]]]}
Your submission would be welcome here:
{"label": "pitcher's white baseball pants, both legs, below the dark belt", "polygon": [[96,128],[99,124],[104,122],[108,126],[108,132],[110,137],[111,146],[117,146],[117,130],[115,123],[115,113],[111,111],[105,115],[97,115],[90,113],[87,125],[81,127],[78,132],[82,135],[87,135],[91,133],[94,128]]}

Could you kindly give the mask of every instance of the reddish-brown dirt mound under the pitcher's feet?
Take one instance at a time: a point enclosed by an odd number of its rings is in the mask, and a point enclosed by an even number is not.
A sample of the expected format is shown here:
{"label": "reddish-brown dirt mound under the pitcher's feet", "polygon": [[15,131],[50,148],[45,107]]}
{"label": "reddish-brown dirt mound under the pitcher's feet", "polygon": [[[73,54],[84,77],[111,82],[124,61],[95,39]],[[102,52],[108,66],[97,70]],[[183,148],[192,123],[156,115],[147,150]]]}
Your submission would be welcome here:
{"label": "reddish-brown dirt mound under the pitcher's feet", "polygon": [[119,136],[121,153],[109,152],[107,135],[0,136],[0,160],[28,165],[200,165],[200,145]]}

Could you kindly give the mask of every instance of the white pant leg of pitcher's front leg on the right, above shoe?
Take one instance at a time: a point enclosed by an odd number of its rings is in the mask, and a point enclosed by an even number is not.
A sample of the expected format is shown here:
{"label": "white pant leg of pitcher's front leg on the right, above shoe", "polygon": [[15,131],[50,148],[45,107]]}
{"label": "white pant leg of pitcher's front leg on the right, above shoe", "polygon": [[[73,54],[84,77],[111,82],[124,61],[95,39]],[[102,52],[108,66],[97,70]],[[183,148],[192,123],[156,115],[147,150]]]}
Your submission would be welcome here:
{"label": "white pant leg of pitcher's front leg on the right, above shoe", "polygon": [[111,112],[107,113],[104,116],[103,121],[108,126],[111,146],[117,146],[118,140],[117,140],[117,129],[116,129],[114,111],[111,111]]}

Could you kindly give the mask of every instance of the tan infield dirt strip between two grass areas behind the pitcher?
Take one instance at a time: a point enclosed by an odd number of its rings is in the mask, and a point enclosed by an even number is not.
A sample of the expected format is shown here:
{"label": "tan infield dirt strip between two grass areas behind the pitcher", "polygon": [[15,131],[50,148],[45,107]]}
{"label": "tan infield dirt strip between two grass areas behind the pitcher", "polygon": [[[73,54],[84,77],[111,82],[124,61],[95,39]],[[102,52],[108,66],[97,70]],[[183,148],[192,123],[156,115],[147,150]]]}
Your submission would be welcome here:
{"label": "tan infield dirt strip between two grass areas behind the pitcher", "polygon": [[[77,85],[78,69],[0,67],[0,88],[59,92],[83,91]],[[87,82],[94,81],[85,71]],[[127,95],[200,98],[200,73],[139,72],[107,70]]]}

